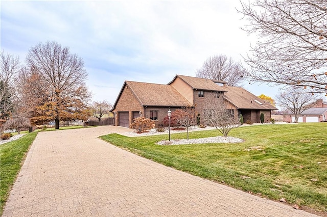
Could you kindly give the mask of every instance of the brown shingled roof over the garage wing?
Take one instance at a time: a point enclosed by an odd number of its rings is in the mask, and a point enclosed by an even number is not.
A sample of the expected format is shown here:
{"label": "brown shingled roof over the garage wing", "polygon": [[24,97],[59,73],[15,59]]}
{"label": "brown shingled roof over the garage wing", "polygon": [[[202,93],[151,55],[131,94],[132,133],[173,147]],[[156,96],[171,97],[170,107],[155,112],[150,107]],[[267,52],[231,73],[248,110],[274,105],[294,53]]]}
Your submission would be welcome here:
{"label": "brown shingled roof over the garage wing", "polygon": [[175,88],[143,82],[125,82],[143,106],[191,106]]}

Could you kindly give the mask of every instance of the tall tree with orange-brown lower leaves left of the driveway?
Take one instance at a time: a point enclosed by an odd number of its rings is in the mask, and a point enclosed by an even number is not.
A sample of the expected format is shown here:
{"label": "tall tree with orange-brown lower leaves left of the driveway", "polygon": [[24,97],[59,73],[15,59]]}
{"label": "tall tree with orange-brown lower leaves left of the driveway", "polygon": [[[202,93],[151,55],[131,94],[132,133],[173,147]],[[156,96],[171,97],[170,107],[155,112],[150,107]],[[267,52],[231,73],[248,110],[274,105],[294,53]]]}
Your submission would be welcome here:
{"label": "tall tree with orange-brown lower leaves left of the driveway", "polygon": [[[32,46],[26,58],[27,64],[39,74],[47,99],[40,111],[49,111],[48,117],[59,121],[84,119],[87,102],[90,98],[85,79],[87,73],[84,62],[68,47],[55,41],[38,43]],[[43,86],[42,84],[42,86]]]}

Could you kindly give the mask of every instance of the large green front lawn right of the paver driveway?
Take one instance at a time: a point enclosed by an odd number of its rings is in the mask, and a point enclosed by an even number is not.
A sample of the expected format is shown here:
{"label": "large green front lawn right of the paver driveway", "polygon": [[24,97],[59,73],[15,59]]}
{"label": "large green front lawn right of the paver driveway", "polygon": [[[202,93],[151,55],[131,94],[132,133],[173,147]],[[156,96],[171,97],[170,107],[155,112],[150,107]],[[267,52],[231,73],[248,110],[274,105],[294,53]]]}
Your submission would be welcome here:
{"label": "large green front lawn right of the paver driveway", "polygon": [[[190,139],[221,135],[218,130],[190,132]],[[229,133],[238,144],[160,146],[168,135],[103,140],[160,164],[245,192],[327,211],[327,123],[239,127]],[[184,139],[185,133],[172,134]],[[312,181],[313,180],[313,181]],[[315,181],[316,180],[316,181]]]}

